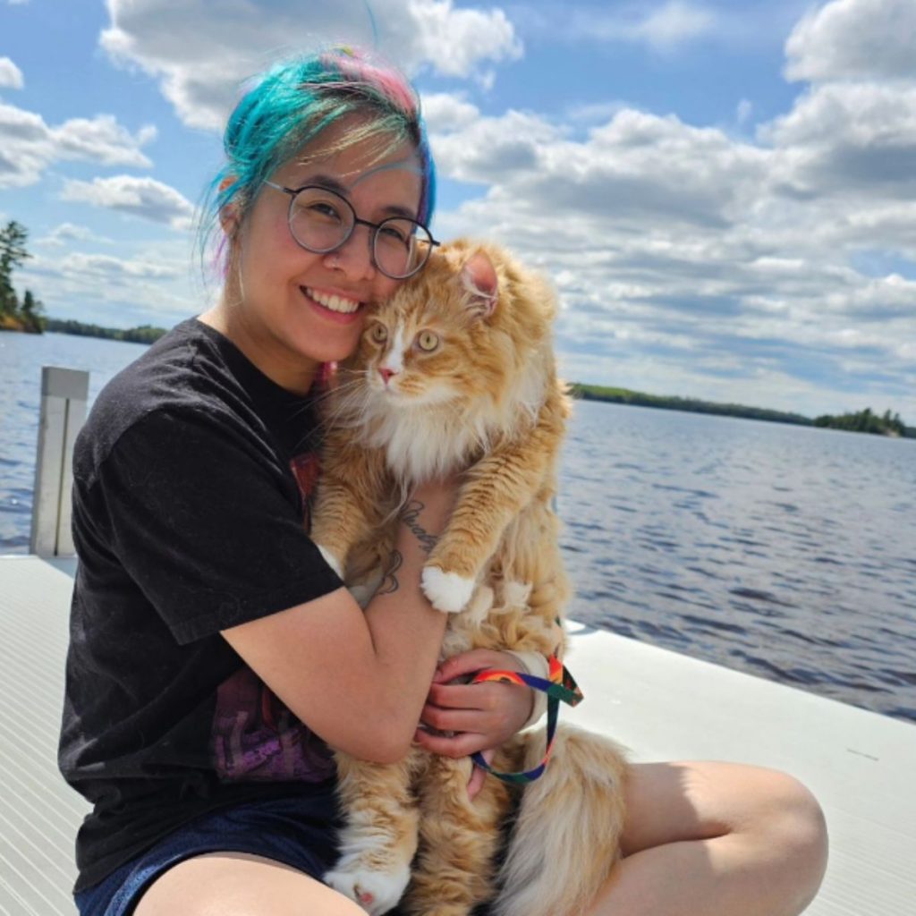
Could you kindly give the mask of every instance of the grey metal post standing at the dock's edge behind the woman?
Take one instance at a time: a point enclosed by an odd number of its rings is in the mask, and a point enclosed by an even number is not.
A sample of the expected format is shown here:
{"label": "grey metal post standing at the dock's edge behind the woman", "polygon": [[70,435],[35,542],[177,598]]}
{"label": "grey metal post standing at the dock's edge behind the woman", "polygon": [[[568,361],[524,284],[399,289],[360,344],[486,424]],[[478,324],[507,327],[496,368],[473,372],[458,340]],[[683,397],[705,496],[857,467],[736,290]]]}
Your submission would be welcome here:
{"label": "grey metal post standing at the dock's edge behind the woman", "polygon": [[29,547],[39,557],[66,556],[73,552],[70,529],[73,443],[86,419],[88,398],[88,372],[42,366]]}

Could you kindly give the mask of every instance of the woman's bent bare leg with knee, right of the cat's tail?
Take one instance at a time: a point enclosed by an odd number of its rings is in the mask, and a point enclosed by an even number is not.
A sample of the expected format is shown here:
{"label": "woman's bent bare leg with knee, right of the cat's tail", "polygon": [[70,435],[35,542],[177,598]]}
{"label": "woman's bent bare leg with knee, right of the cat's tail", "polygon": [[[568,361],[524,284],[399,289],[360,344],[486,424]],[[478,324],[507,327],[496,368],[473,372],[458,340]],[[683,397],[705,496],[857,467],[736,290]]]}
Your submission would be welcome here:
{"label": "woman's bent bare leg with knee, right of the cat's tail", "polygon": [[622,845],[592,916],[797,916],[827,862],[801,783],[726,763],[634,765]]}

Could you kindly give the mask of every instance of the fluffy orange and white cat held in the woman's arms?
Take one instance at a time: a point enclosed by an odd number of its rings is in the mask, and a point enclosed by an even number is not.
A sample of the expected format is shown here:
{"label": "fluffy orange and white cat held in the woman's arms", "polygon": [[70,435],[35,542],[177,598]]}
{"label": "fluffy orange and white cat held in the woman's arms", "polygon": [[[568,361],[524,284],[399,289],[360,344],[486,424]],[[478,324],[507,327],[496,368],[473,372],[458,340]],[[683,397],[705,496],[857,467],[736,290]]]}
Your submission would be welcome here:
{"label": "fluffy orange and white cat held in the woman's arms", "polygon": [[[562,657],[568,588],[551,509],[569,401],[557,379],[549,284],[495,245],[434,252],[368,320],[329,398],[312,537],[368,598],[389,562],[390,519],[434,475],[462,474],[422,587],[449,613],[442,658],[466,649]],[[540,762],[544,736],[516,736],[497,770]],[[610,742],[571,728],[524,790],[488,777],[470,801],[468,758],[414,747],[395,765],[337,754],[346,827],[327,883],[377,914],[572,916],[617,857],[625,765]],[[505,863],[500,825],[522,792]],[[497,875],[497,870],[499,874]]]}

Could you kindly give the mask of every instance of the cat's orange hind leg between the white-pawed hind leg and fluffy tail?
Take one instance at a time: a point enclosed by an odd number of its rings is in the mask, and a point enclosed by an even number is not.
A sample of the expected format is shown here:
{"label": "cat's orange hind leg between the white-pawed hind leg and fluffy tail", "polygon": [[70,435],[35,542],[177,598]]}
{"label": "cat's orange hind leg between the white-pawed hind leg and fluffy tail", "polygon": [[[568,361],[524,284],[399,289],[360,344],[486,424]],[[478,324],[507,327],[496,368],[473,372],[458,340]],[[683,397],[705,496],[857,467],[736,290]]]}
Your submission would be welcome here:
{"label": "cat's orange hind leg between the white-pawed hind leg and fluffy tail", "polygon": [[420,855],[403,905],[411,916],[470,916],[496,896],[500,830],[511,799],[493,778],[469,799],[470,771],[469,758],[438,757],[423,776]]}

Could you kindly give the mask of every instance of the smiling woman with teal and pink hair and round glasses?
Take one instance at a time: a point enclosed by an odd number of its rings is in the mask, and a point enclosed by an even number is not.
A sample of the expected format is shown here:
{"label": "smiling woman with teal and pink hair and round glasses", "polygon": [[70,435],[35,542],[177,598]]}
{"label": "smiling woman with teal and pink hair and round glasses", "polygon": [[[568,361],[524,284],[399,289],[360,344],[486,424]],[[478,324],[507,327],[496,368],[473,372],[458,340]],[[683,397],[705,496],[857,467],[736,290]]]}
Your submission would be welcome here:
{"label": "smiling woman with teal and pink hair and round glasses", "polygon": [[[421,541],[453,482],[414,494],[398,592],[365,614],[302,524],[321,367],[433,244],[414,93],[352,49],[285,62],[238,104],[225,149],[222,296],[106,387],[74,458],[60,766],[94,804],[83,916],[358,914],[320,881],[335,857],[325,742],[379,762],[411,740],[463,756],[530,714],[525,688],[445,683],[517,660],[435,671],[445,621],[420,593]],[[398,256],[392,238],[412,241]],[[627,804],[627,857],[595,913],[790,914],[820,881],[820,811],[778,773],[637,766]]]}

